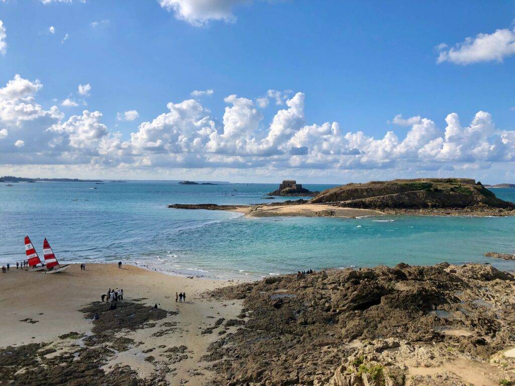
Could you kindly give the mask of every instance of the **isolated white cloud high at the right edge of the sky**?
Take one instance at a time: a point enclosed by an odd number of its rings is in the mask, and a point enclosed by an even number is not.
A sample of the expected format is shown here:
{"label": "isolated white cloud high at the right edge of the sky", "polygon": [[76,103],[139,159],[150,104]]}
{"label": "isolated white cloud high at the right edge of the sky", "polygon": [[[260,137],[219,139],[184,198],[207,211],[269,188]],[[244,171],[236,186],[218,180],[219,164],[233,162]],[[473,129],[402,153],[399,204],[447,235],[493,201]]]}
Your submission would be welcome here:
{"label": "isolated white cloud high at the right edge of the sky", "polygon": [[515,28],[497,29],[493,33],[479,33],[475,38],[466,38],[464,42],[449,49],[447,45],[439,45],[441,49],[437,63],[451,62],[470,64],[497,61],[515,54]]}

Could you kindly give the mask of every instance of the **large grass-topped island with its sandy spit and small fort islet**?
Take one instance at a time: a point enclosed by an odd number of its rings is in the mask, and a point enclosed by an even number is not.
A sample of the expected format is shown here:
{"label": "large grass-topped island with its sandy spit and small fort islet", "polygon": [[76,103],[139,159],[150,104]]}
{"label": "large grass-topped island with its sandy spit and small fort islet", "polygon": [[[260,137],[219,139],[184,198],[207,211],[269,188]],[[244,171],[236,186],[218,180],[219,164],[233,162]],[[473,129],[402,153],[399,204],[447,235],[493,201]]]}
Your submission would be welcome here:
{"label": "large grass-topped island with its sandy spit and small fort islet", "polygon": [[[286,189],[299,186],[281,184]],[[302,188],[302,186],[300,186]],[[289,190],[291,192],[291,190]],[[276,191],[277,192],[277,191]],[[272,193],[276,193],[272,192]],[[297,195],[291,192],[292,195]],[[305,195],[305,194],[304,194]],[[515,203],[501,200],[480,182],[467,178],[350,183],[324,190],[311,200],[254,205],[175,204],[178,209],[231,210],[248,217],[515,216]]]}

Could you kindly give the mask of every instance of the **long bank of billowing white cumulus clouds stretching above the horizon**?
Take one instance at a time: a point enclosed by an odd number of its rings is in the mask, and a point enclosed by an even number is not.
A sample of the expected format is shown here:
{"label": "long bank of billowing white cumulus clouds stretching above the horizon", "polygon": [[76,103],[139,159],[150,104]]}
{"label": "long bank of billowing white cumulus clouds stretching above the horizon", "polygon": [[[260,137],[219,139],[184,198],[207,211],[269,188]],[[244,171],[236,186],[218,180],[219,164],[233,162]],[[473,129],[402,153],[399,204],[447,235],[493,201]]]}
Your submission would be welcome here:
{"label": "long bank of billowing white cumulus clouds stretching above the horizon", "polygon": [[[126,139],[102,123],[102,113],[84,110],[65,118],[57,106],[37,102],[43,84],[16,75],[0,88],[0,163],[89,165],[119,170],[148,168],[371,170],[485,168],[515,160],[515,131],[495,127],[478,111],[469,125],[450,113],[439,129],[428,118],[397,115],[407,126],[399,137],[347,131],[338,122],[308,123],[305,95],[286,100],[266,124],[256,100],[229,95],[221,121],[195,99],[169,102],[167,111],[142,122]],[[80,90],[80,89],[79,89]],[[273,98],[272,96],[267,98]],[[135,110],[121,120],[138,117]]]}

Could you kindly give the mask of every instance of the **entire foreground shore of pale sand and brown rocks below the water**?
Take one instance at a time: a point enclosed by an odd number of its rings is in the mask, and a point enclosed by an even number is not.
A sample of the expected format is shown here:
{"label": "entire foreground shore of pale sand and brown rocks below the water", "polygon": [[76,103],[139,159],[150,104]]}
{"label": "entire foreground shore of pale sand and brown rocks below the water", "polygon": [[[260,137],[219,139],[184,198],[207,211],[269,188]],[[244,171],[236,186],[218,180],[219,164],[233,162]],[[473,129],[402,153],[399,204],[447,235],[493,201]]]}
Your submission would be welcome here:
{"label": "entire foreground shore of pale sand and brown rocks below the water", "polygon": [[[113,264],[1,278],[11,312],[0,315],[0,374],[20,384],[515,380],[515,277],[486,264],[334,268],[236,284]],[[116,310],[98,301],[108,286],[124,288]],[[175,302],[179,290],[187,303]]]}

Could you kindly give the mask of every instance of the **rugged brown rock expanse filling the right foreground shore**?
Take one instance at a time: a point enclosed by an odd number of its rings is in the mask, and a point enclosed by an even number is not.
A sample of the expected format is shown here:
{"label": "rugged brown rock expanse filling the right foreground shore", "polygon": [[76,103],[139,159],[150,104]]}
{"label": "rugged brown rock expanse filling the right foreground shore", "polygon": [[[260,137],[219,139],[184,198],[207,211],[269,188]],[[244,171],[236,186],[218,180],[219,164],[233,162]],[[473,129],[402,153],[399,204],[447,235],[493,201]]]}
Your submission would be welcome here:
{"label": "rugged brown rock expanse filling the right foreground shore", "polygon": [[246,323],[204,359],[232,386],[461,386],[467,366],[480,366],[474,384],[511,382],[514,288],[480,264],[267,277],[213,293],[244,299]]}

